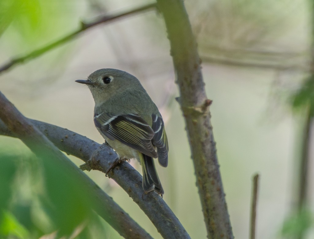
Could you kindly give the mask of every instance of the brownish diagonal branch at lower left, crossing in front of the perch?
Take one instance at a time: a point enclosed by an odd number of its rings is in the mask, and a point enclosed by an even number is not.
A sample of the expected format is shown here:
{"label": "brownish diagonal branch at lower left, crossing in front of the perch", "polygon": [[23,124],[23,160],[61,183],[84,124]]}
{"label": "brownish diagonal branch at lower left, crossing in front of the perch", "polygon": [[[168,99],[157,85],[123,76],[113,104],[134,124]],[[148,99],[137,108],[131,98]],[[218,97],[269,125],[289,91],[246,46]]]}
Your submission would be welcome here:
{"label": "brownish diagonal branch at lower left, crossing in front of the perch", "polygon": [[[0,119],[5,134],[22,140],[39,158],[51,160],[67,170],[68,177],[84,188],[94,210],[125,238],[152,238],[111,197],[103,192],[94,181],[84,174],[61,151],[57,149],[12,103],[0,92]],[[0,120],[0,121],[1,121]],[[2,122],[1,122],[2,123]],[[59,137],[60,140],[60,137]]]}

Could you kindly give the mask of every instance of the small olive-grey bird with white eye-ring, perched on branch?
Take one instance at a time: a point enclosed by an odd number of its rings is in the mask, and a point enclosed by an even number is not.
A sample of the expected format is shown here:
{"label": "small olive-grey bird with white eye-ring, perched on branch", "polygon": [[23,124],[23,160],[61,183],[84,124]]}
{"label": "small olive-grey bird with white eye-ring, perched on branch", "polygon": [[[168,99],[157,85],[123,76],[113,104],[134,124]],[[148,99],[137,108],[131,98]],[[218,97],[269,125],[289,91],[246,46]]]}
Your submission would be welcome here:
{"label": "small olive-grey bird with white eye-ring, perched on branch", "polygon": [[89,87],[95,100],[94,123],[119,158],[136,158],[143,169],[143,190],[161,186],[153,158],[168,165],[168,140],[161,114],[139,80],[122,70],[99,69],[87,80],[76,80]]}

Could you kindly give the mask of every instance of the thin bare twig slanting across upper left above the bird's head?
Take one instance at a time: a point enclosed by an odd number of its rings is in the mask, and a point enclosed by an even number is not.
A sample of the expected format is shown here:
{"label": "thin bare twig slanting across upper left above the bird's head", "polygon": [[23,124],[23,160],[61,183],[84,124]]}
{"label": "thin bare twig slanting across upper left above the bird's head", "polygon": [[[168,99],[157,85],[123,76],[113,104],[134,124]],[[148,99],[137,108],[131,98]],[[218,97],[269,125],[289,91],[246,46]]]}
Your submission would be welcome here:
{"label": "thin bare twig slanting across upper left above the bird's head", "polygon": [[72,40],[74,37],[76,37],[78,34],[80,34],[81,32],[91,28],[91,27],[94,27],[96,25],[99,25],[101,23],[105,23],[105,22],[109,22],[109,21],[112,21],[114,19],[117,19],[117,18],[121,18],[121,17],[125,17],[125,16],[128,16],[128,15],[132,15],[132,14],[136,14],[136,13],[139,13],[139,12],[143,12],[145,10],[149,10],[149,9],[152,9],[152,8],[155,8],[156,7],[156,4],[155,3],[150,3],[150,4],[147,4],[145,6],[142,6],[142,7],[139,7],[139,8],[135,8],[133,10],[130,10],[130,11],[127,11],[127,12],[124,12],[124,13],[120,13],[120,14],[106,14],[104,16],[100,16],[98,17],[97,19],[95,19],[94,21],[90,22],[90,23],[85,23],[85,22],[81,22],[81,27],[80,29],[72,32],[72,33],[69,33],[67,36],[64,36],[63,38],[57,40],[56,42],[53,42],[45,47],[42,47],[40,49],[37,49],[31,53],[28,53],[24,56],[21,56],[21,57],[17,57],[17,58],[13,58],[12,60],[8,61],[7,63],[3,64],[2,66],[0,66],[0,74],[5,71],[5,70],[8,70],[10,69],[12,66],[14,65],[17,65],[17,64],[20,64],[20,63],[23,63],[25,61],[28,61],[30,59],[33,59],[33,58],[36,58],[40,55],[42,55],[43,53],[57,47],[57,46],[60,46],[62,45],[63,43],[65,42],[68,42],[70,40]]}

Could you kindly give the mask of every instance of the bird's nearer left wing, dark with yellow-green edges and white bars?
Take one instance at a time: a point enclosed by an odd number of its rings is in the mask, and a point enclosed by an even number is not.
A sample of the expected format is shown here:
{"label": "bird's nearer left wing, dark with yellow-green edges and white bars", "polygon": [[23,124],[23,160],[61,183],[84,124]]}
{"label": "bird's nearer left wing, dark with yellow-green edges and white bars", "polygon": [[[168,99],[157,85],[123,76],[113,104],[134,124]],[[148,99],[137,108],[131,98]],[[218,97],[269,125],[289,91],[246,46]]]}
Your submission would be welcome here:
{"label": "bird's nearer left wing, dark with yellow-green edges and white bars", "polygon": [[151,141],[154,131],[138,115],[95,114],[94,122],[95,126],[109,139],[117,139],[143,154],[153,158],[158,157]]}

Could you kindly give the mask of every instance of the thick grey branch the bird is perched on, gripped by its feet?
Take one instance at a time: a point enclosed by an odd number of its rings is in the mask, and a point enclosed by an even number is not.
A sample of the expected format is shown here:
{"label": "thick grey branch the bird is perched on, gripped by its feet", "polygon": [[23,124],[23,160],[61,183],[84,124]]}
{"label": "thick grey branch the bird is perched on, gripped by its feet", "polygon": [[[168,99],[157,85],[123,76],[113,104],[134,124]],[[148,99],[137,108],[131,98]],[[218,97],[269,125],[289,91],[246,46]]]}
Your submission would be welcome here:
{"label": "thick grey branch the bird is perched on, gripped by its feet", "polygon": [[[106,144],[100,145],[55,125],[30,119],[29,121],[60,150],[81,158],[91,168],[106,172],[117,158],[116,153]],[[0,134],[16,137],[16,134],[8,130],[1,120]],[[92,155],[93,158],[89,161]],[[143,195],[142,176],[130,164],[122,162],[109,173],[109,176],[132,197],[164,238],[190,238],[176,215],[157,193]]]}

